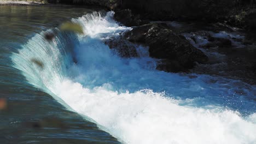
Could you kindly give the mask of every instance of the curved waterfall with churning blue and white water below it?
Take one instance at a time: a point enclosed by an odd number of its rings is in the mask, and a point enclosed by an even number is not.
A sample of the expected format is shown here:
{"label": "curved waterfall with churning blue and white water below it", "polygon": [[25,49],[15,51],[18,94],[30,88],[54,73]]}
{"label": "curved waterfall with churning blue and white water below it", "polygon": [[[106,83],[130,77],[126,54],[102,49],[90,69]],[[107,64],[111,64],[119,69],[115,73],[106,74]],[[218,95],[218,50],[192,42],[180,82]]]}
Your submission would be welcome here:
{"label": "curved waterfall with churning blue and white water below it", "polygon": [[104,40],[132,28],[119,25],[113,15],[72,19],[84,35],[57,27],[47,31],[56,33],[53,41],[44,39],[45,32],[34,35],[13,53],[13,67],[123,143],[256,143],[255,86],[158,71],[157,60],[142,45],[136,45],[139,57],[120,57]]}

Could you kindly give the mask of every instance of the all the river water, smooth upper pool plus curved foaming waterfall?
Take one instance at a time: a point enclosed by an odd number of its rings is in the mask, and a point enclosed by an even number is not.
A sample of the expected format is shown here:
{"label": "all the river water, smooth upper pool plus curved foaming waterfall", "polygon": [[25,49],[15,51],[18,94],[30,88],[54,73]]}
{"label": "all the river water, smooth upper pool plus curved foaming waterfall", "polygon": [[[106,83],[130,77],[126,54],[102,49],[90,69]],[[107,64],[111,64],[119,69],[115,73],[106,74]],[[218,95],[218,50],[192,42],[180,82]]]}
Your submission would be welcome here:
{"label": "all the river water, smooth upper pool plus curved foaming waterfall", "polygon": [[[131,28],[94,11],[1,7],[1,141],[256,143],[255,85],[158,71],[141,45],[120,57],[104,40]],[[84,34],[61,32],[66,20]]]}

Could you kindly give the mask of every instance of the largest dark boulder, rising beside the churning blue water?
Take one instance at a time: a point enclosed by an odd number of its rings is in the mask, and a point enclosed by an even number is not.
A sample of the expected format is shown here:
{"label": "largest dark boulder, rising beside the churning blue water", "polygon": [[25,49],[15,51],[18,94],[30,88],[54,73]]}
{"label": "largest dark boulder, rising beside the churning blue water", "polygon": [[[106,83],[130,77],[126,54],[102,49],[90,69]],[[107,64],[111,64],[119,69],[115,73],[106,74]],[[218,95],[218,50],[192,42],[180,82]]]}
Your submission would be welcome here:
{"label": "largest dark boulder, rising beside the churning blue water", "polygon": [[133,28],[125,33],[124,37],[129,41],[149,46],[151,57],[167,59],[166,67],[175,65],[175,70],[187,70],[193,68],[195,62],[208,61],[208,57],[201,50],[196,49],[163,23],[150,23]]}

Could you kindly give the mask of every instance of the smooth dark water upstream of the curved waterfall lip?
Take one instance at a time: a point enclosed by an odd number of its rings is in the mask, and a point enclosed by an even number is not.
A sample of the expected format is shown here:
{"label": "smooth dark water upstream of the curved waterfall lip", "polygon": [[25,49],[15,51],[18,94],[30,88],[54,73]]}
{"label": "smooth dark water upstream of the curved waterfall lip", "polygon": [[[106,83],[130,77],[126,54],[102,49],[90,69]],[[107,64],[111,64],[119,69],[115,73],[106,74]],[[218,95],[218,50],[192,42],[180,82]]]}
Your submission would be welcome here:
{"label": "smooth dark water upstream of the curved waterfall lip", "polygon": [[10,55],[34,34],[98,8],[0,6],[0,143],[119,143],[97,125],[34,88]]}

